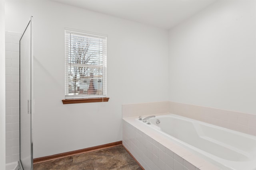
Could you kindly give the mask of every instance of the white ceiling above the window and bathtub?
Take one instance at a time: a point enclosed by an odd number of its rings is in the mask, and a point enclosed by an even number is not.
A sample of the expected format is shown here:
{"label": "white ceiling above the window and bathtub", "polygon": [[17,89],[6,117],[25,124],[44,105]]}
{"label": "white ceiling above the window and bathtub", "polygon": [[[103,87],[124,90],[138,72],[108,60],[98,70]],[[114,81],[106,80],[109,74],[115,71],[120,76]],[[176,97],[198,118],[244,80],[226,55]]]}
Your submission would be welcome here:
{"label": "white ceiling above the window and bathtub", "polygon": [[52,0],[155,27],[170,29],[216,0]]}

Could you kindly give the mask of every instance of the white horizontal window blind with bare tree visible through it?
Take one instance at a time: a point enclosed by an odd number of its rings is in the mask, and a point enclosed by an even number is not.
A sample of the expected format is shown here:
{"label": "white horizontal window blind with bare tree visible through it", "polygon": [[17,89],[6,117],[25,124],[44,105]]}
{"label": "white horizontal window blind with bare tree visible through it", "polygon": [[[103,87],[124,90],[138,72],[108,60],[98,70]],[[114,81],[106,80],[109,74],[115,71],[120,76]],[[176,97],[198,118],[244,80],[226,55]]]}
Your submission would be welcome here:
{"label": "white horizontal window blind with bare tree visible through it", "polygon": [[65,98],[106,97],[106,36],[65,29]]}

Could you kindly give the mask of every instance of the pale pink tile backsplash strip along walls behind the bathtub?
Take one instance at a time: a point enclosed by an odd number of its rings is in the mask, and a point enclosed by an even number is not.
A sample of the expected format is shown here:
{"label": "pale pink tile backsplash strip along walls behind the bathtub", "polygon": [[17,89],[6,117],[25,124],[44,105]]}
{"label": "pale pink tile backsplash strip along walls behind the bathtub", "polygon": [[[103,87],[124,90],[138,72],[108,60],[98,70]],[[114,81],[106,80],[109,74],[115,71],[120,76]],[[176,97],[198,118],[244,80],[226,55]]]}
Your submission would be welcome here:
{"label": "pale pink tile backsplash strip along walls behind the bathtub", "polygon": [[122,117],[160,113],[173,113],[256,136],[256,114],[240,113],[177,102],[152,102],[122,105]]}

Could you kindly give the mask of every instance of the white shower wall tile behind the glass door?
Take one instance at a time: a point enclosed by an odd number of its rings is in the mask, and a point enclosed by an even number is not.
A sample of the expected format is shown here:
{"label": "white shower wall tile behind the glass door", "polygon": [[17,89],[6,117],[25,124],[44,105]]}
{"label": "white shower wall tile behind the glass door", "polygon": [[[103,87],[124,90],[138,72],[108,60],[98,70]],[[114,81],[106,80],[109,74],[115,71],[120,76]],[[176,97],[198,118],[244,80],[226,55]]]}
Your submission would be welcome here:
{"label": "white shower wall tile behind the glass door", "polygon": [[6,164],[20,157],[20,36],[6,31]]}

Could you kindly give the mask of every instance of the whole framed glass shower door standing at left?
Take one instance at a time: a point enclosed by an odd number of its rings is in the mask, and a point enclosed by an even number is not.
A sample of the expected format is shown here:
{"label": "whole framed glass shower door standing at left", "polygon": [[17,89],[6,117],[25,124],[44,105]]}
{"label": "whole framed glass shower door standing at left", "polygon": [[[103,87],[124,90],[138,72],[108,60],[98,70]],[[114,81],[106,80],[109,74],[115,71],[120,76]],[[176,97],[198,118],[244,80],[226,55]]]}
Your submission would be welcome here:
{"label": "whole framed glass shower door standing at left", "polygon": [[21,170],[33,169],[33,42],[32,17],[20,38],[20,160]]}

